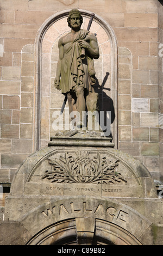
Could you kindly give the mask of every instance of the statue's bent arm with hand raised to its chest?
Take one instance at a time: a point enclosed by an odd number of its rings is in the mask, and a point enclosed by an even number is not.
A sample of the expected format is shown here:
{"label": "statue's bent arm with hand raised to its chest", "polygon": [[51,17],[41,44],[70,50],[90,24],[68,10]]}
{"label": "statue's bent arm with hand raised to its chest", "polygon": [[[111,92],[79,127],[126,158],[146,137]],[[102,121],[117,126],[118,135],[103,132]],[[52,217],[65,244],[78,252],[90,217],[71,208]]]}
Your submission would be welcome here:
{"label": "statue's bent arm with hand raised to its chest", "polygon": [[79,40],[78,42],[80,48],[85,48],[85,50],[89,53],[91,58],[99,58],[99,48],[95,34],[89,33],[89,42],[85,40]]}

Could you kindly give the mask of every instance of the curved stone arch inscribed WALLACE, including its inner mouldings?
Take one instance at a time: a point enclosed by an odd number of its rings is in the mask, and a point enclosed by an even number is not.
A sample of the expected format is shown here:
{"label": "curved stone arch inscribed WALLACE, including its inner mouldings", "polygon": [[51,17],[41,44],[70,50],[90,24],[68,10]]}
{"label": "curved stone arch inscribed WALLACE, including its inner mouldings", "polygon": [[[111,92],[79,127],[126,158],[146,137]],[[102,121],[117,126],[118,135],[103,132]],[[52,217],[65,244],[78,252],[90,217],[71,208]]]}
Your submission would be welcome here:
{"label": "curved stone arch inscribed WALLACE, including its inner mouldings", "polygon": [[85,197],[52,199],[18,221],[31,234],[26,245],[142,245],[152,224],[127,205]]}

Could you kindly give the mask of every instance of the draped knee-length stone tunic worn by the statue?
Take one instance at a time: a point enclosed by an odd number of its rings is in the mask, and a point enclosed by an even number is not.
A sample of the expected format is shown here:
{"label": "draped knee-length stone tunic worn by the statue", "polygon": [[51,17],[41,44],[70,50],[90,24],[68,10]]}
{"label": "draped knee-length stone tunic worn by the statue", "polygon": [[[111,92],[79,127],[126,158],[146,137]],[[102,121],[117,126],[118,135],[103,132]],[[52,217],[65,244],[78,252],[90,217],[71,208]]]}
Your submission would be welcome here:
{"label": "draped knee-length stone tunic worn by the statue", "polygon": [[82,86],[87,92],[92,92],[92,85],[95,84],[95,69],[93,59],[86,56],[82,59],[82,49],[78,41],[86,38],[89,31],[80,29],[76,39],[67,49],[64,58],[61,60],[61,76],[59,87],[62,94],[72,92],[78,86]]}

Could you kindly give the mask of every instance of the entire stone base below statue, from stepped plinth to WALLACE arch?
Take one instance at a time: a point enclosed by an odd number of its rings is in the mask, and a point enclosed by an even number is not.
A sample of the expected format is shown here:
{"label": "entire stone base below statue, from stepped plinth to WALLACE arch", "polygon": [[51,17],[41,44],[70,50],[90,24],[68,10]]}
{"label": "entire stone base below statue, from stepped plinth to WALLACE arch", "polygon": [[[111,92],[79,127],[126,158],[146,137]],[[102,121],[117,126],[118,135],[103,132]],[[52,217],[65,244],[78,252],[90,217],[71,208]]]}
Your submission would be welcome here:
{"label": "entire stone base below statue, from stepped plinth to WALLACE arch", "polygon": [[[22,224],[28,237],[31,234],[28,245],[57,245],[71,235],[78,237],[78,244],[91,245],[98,230],[103,241],[105,235],[110,237],[103,228],[115,233],[114,239],[106,239],[107,245],[152,241],[144,235],[152,229],[148,205],[161,202],[151,175],[139,161],[114,149],[110,138],[89,136],[53,137],[49,147],[30,155],[17,170],[5,220]],[[146,216],[135,211],[137,203],[145,205]],[[68,233],[71,225],[73,234]]]}

